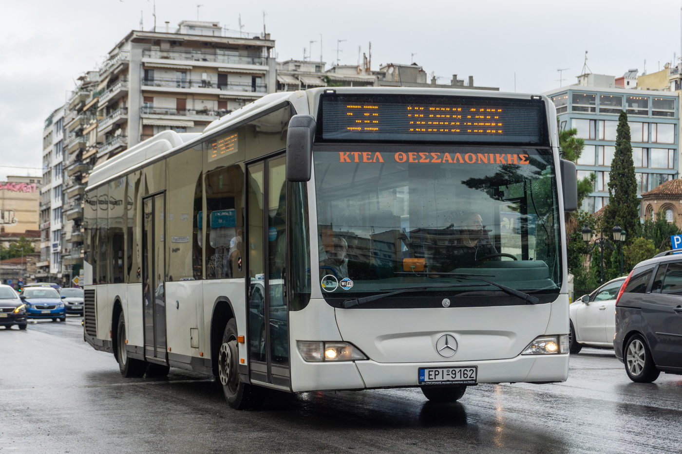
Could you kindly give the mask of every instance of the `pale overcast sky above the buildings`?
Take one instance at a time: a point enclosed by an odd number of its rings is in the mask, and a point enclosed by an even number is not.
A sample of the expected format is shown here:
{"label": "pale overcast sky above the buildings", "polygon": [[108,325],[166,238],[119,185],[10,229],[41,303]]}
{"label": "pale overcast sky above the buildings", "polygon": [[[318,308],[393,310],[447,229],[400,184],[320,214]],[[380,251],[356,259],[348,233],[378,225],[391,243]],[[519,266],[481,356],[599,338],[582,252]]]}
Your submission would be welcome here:
{"label": "pale overcast sky above the buildings", "polygon": [[[655,72],[681,54],[680,1],[225,1],[156,0],[158,29],[170,21],[217,20],[276,40],[278,60],[302,59],[320,34],[327,67],[357,63],[372,42],[372,70],[414,61],[442,77],[452,74],[503,91],[542,93],[575,82],[589,50],[592,72],[621,76]],[[130,30],[153,27],[153,0],[1,0],[0,181],[42,166],[42,129],[83,72],[98,67]],[[309,50],[307,51],[310,52]],[[306,54],[306,56],[308,55]],[[35,170],[39,175],[40,170]]]}

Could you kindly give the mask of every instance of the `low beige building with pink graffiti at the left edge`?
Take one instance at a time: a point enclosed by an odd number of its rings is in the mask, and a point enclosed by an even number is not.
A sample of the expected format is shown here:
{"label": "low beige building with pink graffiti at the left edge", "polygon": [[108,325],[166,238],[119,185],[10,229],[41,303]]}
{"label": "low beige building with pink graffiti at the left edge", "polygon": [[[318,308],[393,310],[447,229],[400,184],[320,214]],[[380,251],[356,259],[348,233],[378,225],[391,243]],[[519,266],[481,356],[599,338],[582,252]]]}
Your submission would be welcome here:
{"label": "low beige building with pink graffiti at the left edge", "polygon": [[0,181],[0,230],[23,233],[38,230],[39,177],[8,177]]}

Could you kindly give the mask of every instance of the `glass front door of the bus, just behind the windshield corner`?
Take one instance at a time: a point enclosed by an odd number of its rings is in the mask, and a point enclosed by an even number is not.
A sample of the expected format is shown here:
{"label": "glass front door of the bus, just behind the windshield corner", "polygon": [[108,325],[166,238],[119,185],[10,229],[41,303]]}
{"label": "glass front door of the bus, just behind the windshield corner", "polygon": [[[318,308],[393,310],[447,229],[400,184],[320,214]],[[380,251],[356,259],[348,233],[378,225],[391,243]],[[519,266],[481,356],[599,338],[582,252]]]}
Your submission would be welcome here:
{"label": "glass front door of the bus, just behind the windshield corner", "polygon": [[248,346],[253,381],[289,389],[284,155],[248,166]]}

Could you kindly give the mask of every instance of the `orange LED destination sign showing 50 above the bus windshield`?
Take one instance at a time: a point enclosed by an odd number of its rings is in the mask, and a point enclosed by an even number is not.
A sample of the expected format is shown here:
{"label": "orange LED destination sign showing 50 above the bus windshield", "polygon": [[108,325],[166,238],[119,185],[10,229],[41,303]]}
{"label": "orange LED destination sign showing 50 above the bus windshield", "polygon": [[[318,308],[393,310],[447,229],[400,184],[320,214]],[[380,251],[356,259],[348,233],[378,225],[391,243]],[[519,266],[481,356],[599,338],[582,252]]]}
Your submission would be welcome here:
{"label": "orange LED destination sign showing 50 above the bus windshield", "polygon": [[321,112],[323,140],[547,141],[539,100],[331,95]]}

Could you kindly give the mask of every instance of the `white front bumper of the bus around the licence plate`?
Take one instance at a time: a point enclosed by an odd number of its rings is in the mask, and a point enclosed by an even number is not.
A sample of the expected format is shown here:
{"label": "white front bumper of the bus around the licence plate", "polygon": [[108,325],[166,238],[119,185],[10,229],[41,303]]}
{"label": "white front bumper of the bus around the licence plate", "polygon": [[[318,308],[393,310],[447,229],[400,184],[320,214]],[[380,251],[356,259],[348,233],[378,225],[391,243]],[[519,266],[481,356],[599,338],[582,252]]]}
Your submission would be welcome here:
{"label": "white front bumper of the bus around the licence plate", "polygon": [[[568,377],[568,354],[519,355],[488,361],[443,363],[306,363],[292,368],[295,392],[340,389],[418,387],[419,369],[424,367],[477,367],[477,383],[563,382]],[[456,384],[456,383],[453,383]]]}

